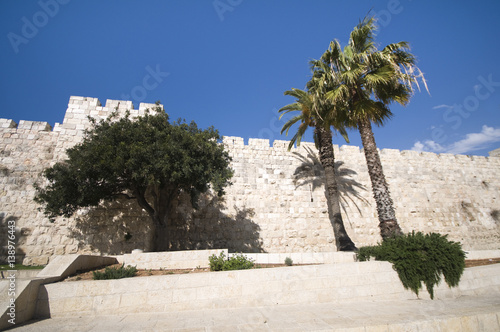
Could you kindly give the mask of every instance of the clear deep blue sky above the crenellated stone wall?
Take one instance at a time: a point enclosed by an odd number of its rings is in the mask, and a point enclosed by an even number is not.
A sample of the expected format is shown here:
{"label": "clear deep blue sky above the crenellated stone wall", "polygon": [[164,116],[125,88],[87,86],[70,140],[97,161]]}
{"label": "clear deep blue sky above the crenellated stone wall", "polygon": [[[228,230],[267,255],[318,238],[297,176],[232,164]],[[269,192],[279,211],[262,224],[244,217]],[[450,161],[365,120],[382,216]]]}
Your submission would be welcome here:
{"label": "clear deep blue sky above the crenellated stone wall", "polygon": [[[500,147],[500,1],[0,1],[0,117],[62,122],[69,97],[161,100],[222,135],[287,139],[277,110],[308,61],[371,9],[377,43],[408,41],[430,94],[374,128],[378,147]],[[149,78],[145,78],[149,75]],[[349,132],[361,146],[359,133]],[[310,140],[310,137],[309,137]],[[335,144],[346,144],[335,137]]]}

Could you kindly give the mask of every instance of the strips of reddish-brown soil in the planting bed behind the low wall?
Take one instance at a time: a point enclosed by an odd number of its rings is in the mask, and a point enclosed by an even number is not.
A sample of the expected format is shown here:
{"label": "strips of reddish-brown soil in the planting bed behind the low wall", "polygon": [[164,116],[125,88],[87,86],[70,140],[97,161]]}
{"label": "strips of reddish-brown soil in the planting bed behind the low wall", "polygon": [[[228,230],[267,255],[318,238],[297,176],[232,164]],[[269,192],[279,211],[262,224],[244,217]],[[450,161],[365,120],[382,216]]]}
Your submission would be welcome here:
{"label": "strips of reddish-brown soil in the planting bed behind the low wall", "polygon": [[[489,264],[497,264],[500,263],[500,258],[492,258],[492,259],[475,259],[475,260],[466,260],[465,267],[473,267],[473,266],[482,266]],[[120,264],[111,265],[112,267],[120,267]],[[284,264],[257,264],[255,268],[271,268],[271,267],[281,267],[285,266]],[[97,271],[104,271],[105,268],[98,269]],[[170,275],[170,274],[188,274],[188,273],[203,273],[210,272],[209,268],[196,268],[196,269],[176,269],[176,270],[138,270],[136,277],[146,277],[146,276],[158,276],[158,275]],[[66,278],[64,281],[78,281],[78,280],[92,280],[93,274],[92,271],[86,271],[77,273]]]}

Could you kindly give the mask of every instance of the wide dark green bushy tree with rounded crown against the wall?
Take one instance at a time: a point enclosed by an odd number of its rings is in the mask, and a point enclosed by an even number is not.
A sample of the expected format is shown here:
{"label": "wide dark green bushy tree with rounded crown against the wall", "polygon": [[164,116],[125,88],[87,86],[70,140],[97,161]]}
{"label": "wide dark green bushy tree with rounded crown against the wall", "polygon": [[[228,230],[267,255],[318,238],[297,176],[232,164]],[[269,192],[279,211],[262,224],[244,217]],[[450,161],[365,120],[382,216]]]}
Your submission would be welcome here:
{"label": "wide dark green bushy tree with rounded crown against the wall", "polygon": [[[222,195],[230,184],[231,158],[213,127],[170,122],[160,107],[142,117],[113,114],[91,121],[83,141],[66,151],[67,159],[43,172],[48,183],[37,187],[35,201],[51,220],[125,197],[137,200],[155,230],[168,226],[171,203],[182,192],[196,207],[200,193],[212,189]],[[152,234],[149,250],[158,240]]]}

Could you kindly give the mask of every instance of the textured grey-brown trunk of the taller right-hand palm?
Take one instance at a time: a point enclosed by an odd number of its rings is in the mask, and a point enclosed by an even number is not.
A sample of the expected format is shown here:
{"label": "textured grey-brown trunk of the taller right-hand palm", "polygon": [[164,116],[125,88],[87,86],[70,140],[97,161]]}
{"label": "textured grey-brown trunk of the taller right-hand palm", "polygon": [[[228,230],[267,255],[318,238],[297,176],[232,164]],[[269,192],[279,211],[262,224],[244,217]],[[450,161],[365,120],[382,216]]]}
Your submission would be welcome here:
{"label": "textured grey-brown trunk of the taller right-hand palm", "polygon": [[363,143],[368,174],[372,183],[373,198],[377,203],[380,235],[382,239],[402,235],[403,232],[396,220],[394,203],[389,192],[389,186],[385,180],[370,120],[363,119],[358,121],[358,129]]}

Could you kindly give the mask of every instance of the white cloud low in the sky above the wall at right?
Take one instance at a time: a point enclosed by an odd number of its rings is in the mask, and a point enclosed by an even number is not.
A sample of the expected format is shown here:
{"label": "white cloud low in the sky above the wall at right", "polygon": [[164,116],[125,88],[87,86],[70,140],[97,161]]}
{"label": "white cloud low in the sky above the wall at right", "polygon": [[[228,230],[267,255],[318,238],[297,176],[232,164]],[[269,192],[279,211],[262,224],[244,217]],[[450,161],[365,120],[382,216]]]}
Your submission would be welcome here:
{"label": "white cloud low in the sky above the wall at right", "polygon": [[484,149],[495,142],[500,142],[500,128],[484,125],[480,133],[467,134],[464,139],[447,146],[442,146],[432,140],[426,140],[424,142],[417,141],[411,149],[419,152],[465,154]]}

